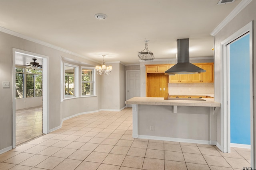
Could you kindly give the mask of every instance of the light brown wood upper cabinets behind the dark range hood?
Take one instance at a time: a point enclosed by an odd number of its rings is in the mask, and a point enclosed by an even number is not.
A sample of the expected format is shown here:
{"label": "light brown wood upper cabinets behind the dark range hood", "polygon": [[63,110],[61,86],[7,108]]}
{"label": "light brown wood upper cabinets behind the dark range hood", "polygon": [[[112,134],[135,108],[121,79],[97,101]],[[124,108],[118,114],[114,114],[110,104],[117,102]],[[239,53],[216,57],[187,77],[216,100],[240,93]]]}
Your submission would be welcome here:
{"label": "light brown wood upper cabinets behind the dark range hood", "polygon": [[[175,74],[169,76],[169,83],[177,82],[213,82],[213,63],[194,63],[196,66],[206,70],[200,74]],[[170,67],[172,67],[171,65]]]}

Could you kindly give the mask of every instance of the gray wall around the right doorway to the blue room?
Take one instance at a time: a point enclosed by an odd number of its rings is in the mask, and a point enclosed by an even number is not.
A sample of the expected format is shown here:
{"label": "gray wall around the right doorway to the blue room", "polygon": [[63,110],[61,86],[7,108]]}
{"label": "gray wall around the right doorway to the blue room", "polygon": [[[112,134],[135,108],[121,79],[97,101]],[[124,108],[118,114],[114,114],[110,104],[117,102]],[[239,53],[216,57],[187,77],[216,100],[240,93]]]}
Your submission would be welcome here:
{"label": "gray wall around the right doorway to the blue room", "polygon": [[[215,36],[214,36],[214,85],[215,85],[215,101],[222,103],[222,94],[223,94],[223,63],[222,63],[222,54],[221,54],[221,42],[226,38],[230,37],[233,33],[241,29],[244,25],[248,24],[252,20],[256,20],[256,1],[252,0],[238,15],[236,15],[227,25],[225,25]],[[256,23],[254,22],[254,27]],[[256,34],[254,33],[254,46],[253,49],[256,49]],[[254,56],[256,56],[256,51],[254,50]],[[256,66],[256,60],[254,59],[254,66]],[[254,69],[254,89],[255,88],[255,78],[256,69]],[[223,103],[222,103],[223,106]],[[255,105],[254,105],[254,108]],[[221,115],[223,114],[223,107],[221,107],[219,113],[217,113],[217,142],[223,146],[221,141]],[[255,111],[254,111],[255,112]],[[254,137],[255,139],[255,137]]]}

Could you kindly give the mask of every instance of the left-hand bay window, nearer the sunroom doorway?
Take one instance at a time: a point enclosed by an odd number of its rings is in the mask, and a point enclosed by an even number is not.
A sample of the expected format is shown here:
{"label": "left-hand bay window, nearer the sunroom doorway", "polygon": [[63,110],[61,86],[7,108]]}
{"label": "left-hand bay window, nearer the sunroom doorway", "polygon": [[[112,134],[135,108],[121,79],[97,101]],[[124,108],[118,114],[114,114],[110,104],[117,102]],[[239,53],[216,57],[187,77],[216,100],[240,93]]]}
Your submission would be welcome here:
{"label": "left-hand bay window, nearer the sunroom doorway", "polygon": [[76,67],[65,65],[65,98],[75,96],[76,87]]}

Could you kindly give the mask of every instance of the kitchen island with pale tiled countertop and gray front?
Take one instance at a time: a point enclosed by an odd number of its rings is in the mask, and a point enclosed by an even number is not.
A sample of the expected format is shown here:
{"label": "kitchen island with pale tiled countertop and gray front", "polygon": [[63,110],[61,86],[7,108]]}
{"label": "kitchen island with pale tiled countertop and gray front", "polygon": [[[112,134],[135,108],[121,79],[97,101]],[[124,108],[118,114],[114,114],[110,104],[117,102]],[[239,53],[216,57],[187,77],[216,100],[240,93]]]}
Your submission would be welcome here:
{"label": "kitchen island with pale tiled countertop and gray front", "polygon": [[134,97],[126,104],[132,105],[134,138],[216,145],[220,103],[214,99]]}

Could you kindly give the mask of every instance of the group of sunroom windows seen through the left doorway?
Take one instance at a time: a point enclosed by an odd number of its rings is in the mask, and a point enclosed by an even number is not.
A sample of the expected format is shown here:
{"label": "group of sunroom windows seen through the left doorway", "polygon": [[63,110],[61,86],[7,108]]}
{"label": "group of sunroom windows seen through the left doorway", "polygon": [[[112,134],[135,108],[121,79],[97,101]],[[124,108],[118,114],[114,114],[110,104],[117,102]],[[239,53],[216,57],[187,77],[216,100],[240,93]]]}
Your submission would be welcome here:
{"label": "group of sunroom windows seen through the left doorway", "polygon": [[42,96],[42,70],[16,68],[16,98],[24,98],[24,93],[27,98]]}

